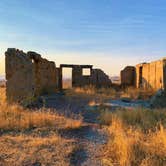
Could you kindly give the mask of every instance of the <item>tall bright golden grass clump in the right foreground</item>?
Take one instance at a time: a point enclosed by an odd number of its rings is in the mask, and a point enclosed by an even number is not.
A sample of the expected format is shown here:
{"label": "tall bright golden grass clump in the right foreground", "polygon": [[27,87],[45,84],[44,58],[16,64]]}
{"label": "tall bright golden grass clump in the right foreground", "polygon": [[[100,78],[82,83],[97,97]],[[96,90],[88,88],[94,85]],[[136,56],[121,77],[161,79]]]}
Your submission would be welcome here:
{"label": "tall bright golden grass clump in the right foreground", "polygon": [[110,139],[104,148],[104,165],[164,166],[166,165],[166,130],[143,133],[126,126],[121,119],[112,119]]}

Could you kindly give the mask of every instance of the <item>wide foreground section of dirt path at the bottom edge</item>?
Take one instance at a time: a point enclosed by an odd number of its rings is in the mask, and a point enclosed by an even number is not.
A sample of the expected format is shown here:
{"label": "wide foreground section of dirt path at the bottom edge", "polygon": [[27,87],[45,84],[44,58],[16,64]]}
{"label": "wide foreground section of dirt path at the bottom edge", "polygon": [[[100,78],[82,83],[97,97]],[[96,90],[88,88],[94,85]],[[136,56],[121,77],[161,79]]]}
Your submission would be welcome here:
{"label": "wide foreground section of dirt path at the bottom edge", "polygon": [[86,124],[75,129],[61,131],[61,136],[74,138],[76,148],[70,156],[70,164],[73,166],[101,166],[100,152],[107,142],[106,134],[97,125]]}

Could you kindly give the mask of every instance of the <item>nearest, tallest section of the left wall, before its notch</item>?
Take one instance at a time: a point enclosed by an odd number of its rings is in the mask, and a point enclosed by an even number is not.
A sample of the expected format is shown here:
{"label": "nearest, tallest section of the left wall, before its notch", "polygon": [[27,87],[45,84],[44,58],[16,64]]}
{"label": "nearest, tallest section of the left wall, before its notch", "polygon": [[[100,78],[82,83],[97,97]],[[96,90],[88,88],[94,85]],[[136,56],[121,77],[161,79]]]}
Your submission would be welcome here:
{"label": "nearest, tallest section of the left wall, before its notch", "polygon": [[34,67],[23,51],[8,49],[5,53],[6,95],[8,101],[21,102],[34,96]]}

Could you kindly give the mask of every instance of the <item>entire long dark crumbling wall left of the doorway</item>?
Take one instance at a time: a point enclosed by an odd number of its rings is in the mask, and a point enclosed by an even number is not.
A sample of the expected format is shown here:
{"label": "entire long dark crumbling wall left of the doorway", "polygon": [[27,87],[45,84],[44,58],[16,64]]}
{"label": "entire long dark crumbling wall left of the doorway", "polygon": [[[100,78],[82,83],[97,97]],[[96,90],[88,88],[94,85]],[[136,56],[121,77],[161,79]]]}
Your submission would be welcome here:
{"label": "entire long dark crumbling wall left of the doorway", "polygon": [[54,62],[40,54],[8,49],[6,58],[6,92],[8,101],[22,102],[57,89],[57,70]]}

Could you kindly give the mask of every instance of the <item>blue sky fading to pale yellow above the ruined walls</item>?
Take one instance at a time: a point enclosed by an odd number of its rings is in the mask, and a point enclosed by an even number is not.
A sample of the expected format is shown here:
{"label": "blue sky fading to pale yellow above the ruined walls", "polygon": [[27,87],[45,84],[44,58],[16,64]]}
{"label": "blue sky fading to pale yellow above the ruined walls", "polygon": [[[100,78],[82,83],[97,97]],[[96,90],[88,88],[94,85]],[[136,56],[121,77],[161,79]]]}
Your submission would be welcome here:
{"label": "blue sky fading to pale yellow above the ruined walls", "polygon": [[166,56],[166,1],[0,0],[0,74],[9,47],[119,75]]}

